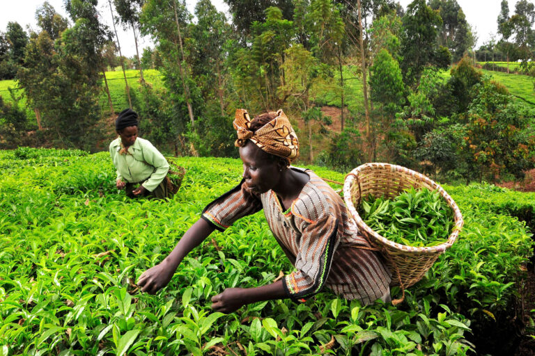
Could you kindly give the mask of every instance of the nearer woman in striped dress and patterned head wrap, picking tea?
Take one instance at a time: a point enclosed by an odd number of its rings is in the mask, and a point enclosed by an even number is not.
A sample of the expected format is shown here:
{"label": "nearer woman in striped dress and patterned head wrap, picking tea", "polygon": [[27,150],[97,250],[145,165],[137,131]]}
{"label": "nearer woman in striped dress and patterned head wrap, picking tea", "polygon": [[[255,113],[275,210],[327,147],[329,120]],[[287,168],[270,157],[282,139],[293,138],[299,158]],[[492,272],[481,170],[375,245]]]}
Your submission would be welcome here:
{"label": "nearer woman in striped dress and patterned head wrap, picking tea", "polygon": [[364,305],[389,301],[389,269],[358,234],[342,198],[311,170],[290,165],[298,156],[299,142],[284,112],[250,120],[247,111],[238,110],[233,124],[244,167],[242,181],[208,204],[169,256],[139,277],[142,291],[155,293],[166,286],[184,257],[215,229],[224,231],[263,209],[295,269],[272,284],[225,289],[212,297],[213,309],[228,313],[281,298],[304,302],[324,287]]}

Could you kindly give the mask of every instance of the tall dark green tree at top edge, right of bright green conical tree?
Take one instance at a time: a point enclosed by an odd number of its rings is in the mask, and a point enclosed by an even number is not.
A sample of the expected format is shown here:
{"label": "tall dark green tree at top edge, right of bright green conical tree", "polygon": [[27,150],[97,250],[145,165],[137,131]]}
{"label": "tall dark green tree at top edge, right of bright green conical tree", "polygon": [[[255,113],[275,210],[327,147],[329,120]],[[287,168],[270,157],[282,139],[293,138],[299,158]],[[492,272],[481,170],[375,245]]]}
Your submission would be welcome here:
{"label": "tall dark green tree at top edge, right of bright green conical tree", "polygon": [[400,63],[403,79],[408,86],[419,82],[424,67],[431,65],[446,68],[450,63],[449,51],[440,47],[437,36],[442,19],[437,10],[425,0],[414,0],[403,16]]}

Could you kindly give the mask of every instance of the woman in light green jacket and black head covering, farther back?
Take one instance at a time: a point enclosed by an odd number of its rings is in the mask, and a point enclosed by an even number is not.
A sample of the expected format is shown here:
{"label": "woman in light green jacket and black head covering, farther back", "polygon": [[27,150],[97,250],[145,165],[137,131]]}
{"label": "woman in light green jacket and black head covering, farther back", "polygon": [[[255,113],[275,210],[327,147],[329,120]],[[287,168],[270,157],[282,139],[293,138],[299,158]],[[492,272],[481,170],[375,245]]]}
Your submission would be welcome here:
{"label": "woman in light green jacket and black head covering, farther back", "polygon": [[109,144],[109,154],[117,170],[116,186],[128,197],[171,197],[166,179],[169,163],[148,140],[137,137],[138,115],[127,108],[115,122],[118,138]]}

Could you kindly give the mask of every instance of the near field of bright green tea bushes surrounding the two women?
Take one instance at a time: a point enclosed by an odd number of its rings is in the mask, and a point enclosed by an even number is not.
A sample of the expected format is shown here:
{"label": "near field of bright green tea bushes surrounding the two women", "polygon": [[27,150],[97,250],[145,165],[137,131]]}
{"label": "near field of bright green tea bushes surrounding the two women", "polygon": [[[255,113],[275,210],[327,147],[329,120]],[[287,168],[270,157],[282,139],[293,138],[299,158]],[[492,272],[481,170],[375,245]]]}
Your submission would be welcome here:
{"label": "near field of bright green tea bushes surrounding the two women", "polygon": [[[488,330],[502,340],[518,332],[533,242],[507,213],[533,195],[493,186],[446,187],[465,227],[398,307],[362,307],[325,291],[302,305],[212,313],[210,298],[224,288],[292,270],[262,212],[208,238],[156,296],[141,293],[139,275],[240,181],[239,160],[176,162],[187,170],[183,186],[160,202],[118,193],[107,152],[0,152],[0,355],[483,355],[497,347]],[[499,199],[485,200],[492,194]]]}

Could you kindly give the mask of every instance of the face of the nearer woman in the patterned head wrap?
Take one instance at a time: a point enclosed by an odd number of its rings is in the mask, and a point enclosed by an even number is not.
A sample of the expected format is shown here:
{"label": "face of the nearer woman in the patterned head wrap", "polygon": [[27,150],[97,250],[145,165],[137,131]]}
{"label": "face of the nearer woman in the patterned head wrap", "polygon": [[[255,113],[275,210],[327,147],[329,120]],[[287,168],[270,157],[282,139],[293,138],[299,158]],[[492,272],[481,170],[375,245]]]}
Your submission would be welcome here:
{"label": "face of the nearer woman in the patterned head wrap", "polygon": [[277,161],[273,161],[269,154],[251,141],[240,147],[240,158],[243,162],[243,178],[247,191],[262,194],[279,184],[281,171]]}

